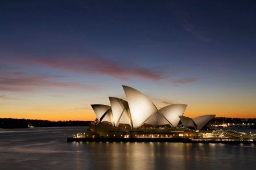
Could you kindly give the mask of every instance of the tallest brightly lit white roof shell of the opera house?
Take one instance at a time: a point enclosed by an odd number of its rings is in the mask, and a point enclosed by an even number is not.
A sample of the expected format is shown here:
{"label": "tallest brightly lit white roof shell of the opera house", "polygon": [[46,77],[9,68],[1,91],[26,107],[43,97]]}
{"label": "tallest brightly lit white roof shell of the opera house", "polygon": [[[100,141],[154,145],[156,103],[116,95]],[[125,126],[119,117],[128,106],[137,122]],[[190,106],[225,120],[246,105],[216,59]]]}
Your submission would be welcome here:
{"label": "tallest brightly lit white roof shell of the opera house", "polygon": [[134,88],[123,86],[126,99],[129,103],[130,114],[133,120],[133,128],[138,128],[142,123],[154,114],[157,109],[147,96]]}

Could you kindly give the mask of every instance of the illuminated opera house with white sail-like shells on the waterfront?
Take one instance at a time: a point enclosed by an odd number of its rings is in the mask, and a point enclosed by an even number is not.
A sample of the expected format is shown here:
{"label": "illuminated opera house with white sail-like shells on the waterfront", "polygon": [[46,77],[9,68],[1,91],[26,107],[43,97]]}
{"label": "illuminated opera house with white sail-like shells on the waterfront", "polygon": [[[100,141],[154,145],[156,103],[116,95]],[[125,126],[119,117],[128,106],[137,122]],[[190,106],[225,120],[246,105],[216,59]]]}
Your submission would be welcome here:
{"label": "illuminated opera house with white sail-like shells on the waterfront", "polygon": [[147,96],[123,86],[126,100],[109,97],[110,105],[93,104],[97,119],[84,138],[197,138],[215,115],[183,116],[185,104],[157,109]]}

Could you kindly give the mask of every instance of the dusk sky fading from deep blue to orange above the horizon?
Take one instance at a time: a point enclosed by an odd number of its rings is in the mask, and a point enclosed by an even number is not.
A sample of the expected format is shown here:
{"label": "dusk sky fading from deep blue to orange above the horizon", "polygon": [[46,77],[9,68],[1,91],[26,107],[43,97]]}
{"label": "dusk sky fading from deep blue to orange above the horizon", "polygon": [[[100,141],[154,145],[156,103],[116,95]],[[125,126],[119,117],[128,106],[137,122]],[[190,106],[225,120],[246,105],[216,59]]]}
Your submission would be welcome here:
{"label": "dusk sky fading from deep blue to orange above the horizon", "polygon": [[0,1],[0,117],[95,120],[122,85],[256,118],[255,1]]}

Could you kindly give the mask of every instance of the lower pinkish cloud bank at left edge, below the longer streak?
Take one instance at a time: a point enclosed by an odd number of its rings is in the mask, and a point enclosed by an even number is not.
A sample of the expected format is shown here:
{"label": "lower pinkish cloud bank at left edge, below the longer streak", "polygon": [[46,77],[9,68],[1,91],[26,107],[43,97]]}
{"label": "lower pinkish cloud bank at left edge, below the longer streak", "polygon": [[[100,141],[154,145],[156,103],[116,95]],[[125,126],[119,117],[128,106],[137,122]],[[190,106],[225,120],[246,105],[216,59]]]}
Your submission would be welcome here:
{"label": "lower pinkish cloud bank at left edge, below the longer streak", "polygon": [[82,87],[93,89],[93,87],[86,84],[59,82],[55,76],[32,76],[24,73],[0,73],[0,87],[0,91],[10,92],[35,91],[38,88],[48,87]]}

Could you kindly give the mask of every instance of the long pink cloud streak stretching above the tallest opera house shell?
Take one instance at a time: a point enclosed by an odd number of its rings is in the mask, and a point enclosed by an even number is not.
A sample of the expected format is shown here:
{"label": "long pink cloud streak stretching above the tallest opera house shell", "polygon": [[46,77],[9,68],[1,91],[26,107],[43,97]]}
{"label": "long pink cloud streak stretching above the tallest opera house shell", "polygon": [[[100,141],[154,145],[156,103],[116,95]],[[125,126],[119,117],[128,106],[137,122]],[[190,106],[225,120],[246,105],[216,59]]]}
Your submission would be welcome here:
{"label": "long pink cloud streak stretching above the tallest opera house shell", "polygon": [[56,56],[54,58],[17,57],[11,61],[5,59],[3,62],[15,65],[38,65],[92,75],[108,75],[122,80],[130,79],[133,76],[150,80],[164,78],[159,71],[134,66],[133,63],[114,62],[102,58],[63,56]]}

